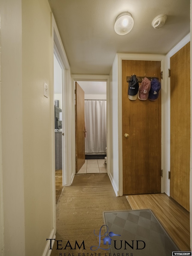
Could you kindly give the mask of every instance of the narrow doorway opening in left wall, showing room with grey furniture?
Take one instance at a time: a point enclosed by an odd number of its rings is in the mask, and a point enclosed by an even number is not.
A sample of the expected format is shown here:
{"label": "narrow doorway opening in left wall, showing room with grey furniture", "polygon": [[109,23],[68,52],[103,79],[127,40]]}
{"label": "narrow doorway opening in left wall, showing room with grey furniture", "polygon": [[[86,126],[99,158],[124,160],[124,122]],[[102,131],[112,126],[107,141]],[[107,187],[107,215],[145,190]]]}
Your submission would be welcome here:
{"label": "narrow doorway opening in left wall, showing room with grey furniture", "polygon": [[55,123],[55,200],[63,189],[62,146],[62,68],[54,53],[54,123]]}

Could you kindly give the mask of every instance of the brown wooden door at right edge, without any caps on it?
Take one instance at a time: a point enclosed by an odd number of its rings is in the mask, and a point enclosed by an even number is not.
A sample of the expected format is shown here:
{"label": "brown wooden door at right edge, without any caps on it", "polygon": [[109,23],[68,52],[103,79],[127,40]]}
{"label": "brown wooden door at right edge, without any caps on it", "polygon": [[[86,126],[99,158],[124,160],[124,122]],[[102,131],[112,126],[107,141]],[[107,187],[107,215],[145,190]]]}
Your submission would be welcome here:
{"label": "brown wooden door at right edge, without any caps on it", "polygon": [[189,211],[190,42],[170,58],[170,196]]}

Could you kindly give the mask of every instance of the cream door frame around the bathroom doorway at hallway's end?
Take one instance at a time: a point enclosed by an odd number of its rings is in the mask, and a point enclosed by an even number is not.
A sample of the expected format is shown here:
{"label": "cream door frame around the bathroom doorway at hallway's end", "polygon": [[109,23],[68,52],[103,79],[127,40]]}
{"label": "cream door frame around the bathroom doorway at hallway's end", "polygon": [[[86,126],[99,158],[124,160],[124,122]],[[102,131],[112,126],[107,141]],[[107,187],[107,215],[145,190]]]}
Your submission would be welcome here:
{"label": "cream door frame around the bathroom doorway at hallway's end", "polygon": [[[75,134],[75,82],[77,81],[98,81],[98,82],[106,82],[107,86],[107,155],[110,155],[110,107],[109,107],[109,75],[80,75],[80,74],[73,74],[71,75],[71,82],[72,82],[72,102],[73,102],[73,116],[72,116],[72,129],[73,133]],[[72,155],[75,157],[75,136],[73,136],[71,144],[73,145],[72,148]],[[109,150],[109,151],[108,151]],[[73,158],[74,158],[73,157]],[[110,169],[110,161],[107,158],[107,173]],[[73,159],[73,177],[75,176],[75,158]]]}

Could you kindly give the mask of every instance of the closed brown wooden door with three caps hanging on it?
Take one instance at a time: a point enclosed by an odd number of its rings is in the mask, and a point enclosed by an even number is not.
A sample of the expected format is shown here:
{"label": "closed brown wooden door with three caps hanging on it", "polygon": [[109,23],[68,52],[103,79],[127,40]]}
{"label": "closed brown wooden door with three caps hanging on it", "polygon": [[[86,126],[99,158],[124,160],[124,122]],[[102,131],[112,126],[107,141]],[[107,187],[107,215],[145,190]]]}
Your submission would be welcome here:
{"label": "closed brown wooden door with three caps hanging on it", "polygon": [[161,62],[122,60],[123,194],[160,193],[161,91],[156,101],[131,101],[127,76],[133,74],[155,75],[161,82]]}

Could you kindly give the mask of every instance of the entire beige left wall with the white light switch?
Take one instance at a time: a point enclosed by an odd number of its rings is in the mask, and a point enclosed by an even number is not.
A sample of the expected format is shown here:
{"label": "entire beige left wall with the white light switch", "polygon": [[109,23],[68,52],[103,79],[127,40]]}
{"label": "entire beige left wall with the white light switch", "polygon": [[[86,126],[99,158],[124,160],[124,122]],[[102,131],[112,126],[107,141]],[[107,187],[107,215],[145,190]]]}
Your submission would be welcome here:
{"label": "entire beige left wall with the white light switch", "polygon": [[53,38],[47,0],[1,1],[1,52],[0,254],[38,256],[55,226]]}

